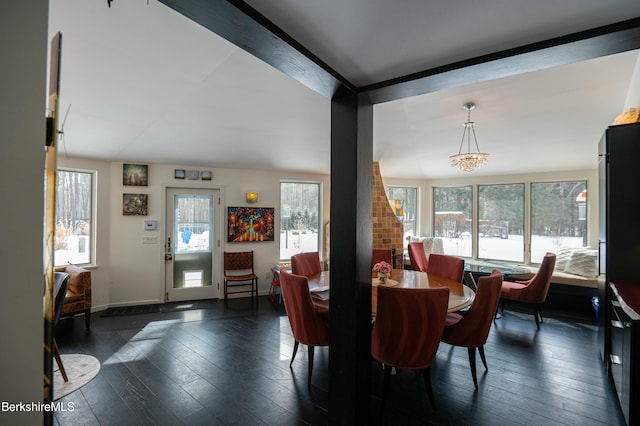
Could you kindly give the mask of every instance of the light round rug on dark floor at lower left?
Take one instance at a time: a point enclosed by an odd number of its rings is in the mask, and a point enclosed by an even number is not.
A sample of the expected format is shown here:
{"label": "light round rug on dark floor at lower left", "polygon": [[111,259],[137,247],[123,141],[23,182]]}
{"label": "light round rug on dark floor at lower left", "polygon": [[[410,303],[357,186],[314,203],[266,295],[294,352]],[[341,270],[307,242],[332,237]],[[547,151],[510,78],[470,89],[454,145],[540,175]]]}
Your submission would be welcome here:
{"label": "light round rug on dark floor at lower left", "polygon": [[93,380],[100,371],[100,361],[91,355],[61,355],[68,382],[62,378],[58,363],[53,360],[53,400],[69,395]]}

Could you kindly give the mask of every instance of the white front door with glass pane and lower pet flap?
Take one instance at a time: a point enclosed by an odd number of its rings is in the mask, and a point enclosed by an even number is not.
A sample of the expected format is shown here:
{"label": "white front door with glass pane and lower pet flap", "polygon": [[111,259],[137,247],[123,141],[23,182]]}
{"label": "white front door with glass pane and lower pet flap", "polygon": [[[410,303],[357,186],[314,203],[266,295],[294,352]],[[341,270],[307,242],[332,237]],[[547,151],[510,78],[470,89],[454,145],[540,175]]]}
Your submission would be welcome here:
{"label": "white front door with glass pane and lower pet flap", "polygon": [[219,190],[167,188],[166,300],[218,297]]}

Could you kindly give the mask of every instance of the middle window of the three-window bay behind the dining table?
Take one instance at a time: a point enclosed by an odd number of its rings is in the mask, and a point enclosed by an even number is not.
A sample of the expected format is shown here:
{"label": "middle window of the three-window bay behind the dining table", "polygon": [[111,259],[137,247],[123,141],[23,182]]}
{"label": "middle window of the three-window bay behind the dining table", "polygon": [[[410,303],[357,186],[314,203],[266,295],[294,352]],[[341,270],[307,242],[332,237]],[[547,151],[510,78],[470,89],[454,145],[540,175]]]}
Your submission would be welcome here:
{"label": "middle window of the three-window bay behind the dining table", "polygon": [[478,257],[524,261],[524,184],[478,186]]}

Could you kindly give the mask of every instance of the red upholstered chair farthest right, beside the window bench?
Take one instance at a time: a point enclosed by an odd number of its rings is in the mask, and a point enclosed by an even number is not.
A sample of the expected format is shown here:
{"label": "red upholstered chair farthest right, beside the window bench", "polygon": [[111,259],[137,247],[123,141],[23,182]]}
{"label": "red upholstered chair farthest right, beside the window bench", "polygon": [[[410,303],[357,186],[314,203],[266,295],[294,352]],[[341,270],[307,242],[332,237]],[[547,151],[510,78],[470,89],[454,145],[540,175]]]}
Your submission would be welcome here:
{"label": "red upholstered chair farthest right, beside the window bench", "polygon": [[527,281],[503,281],[501,298],[501,311],[504,313],[504,303],[506,300],[528,303],[533,305],[533,316],[536,320],[536,327],[540,329],[542,322],[542,304],[547,299],[553,268],[556,266],[556,255],[547,252],[542,259],[538,272]]}

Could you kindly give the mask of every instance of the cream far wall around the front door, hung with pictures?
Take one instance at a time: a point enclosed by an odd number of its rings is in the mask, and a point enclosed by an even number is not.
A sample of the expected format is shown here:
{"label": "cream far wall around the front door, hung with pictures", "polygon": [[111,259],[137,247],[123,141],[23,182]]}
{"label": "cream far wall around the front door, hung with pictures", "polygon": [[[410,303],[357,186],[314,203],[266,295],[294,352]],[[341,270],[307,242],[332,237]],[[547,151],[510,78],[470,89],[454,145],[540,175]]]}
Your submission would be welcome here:
{"label": "cream far wall around the front door, hung with pictures", "polygon": [[[134,162],[135,164],[142,164]],[[149,185],[122,184],[122,162],[61,158],[59,167],[98,170],[97,261],[92,270],[93,310],[109,306],[164,302],[165,192],[167,187],[217,188],[221,190],[222,212],[228,206],[246,206],[245,193],[259,194],[258,207],[275,207],[280,212],[280,181],[322,182],[322,221],[329,220],[330,179],[328,175],[260,170],[216,169],[183,165],[149,164]],[[211,181],[174,179],[175,169],[211,170]],[[148,194],[147,216],[123,216],[122,194]],[[157,220],[157,231],[145,231],[144,220]],[[222,231],[226,232],[226,216]],[[143,244],[143,237],[157,237],[157,244]],[[227,243],[221,237],[221,251],[253,250],[259,291],[266,294],[271,283],[270,269],[279,260],[279,235],[273,242]],[[322,246],[321,246],[322,247]],[[322,250],[321,250],[322,252]],[[220,282],[221,281],[220,277]],[[221,293],[222,294],[222,293]]]}

